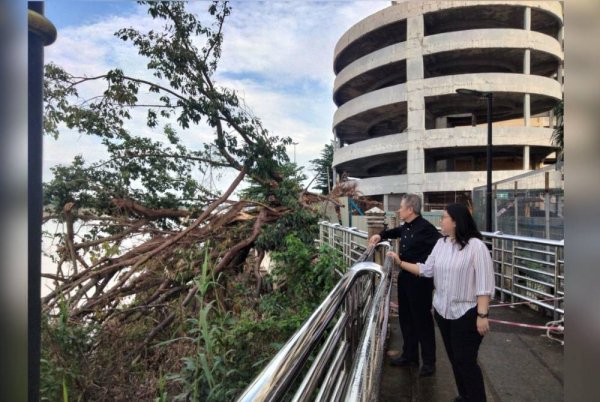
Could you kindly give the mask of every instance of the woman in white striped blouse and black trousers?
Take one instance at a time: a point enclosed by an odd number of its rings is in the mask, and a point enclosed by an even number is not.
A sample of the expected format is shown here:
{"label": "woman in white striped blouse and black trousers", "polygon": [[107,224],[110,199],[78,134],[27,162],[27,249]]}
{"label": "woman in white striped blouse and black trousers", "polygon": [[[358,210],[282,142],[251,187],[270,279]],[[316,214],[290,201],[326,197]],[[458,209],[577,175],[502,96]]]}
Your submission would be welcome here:
{"label": "woman in white striped blouse and black trousers", "polygon": [[433,277],[434,316],[454,371],[459,401],[485,401],[485,387],[477,353],[489,331],[488,306],[494,293],[492,259],[469,210],[450,204],[441,220],[442,233],[425,263],[402,261],[389,252],[400,268]]}

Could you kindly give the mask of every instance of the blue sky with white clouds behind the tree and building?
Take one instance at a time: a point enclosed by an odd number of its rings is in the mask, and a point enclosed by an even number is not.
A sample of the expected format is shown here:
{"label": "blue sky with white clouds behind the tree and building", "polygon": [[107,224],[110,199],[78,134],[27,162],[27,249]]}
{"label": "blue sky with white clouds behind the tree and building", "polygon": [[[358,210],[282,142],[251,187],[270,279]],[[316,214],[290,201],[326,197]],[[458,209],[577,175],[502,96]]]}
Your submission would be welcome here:
{"label": "blue sky with white clouds behind the tree and building", "polygon": [[[324,145],[333,139],[335,44],[352,25],[390,2],[246,0],[230,4],[233,9],[225,23],[223,54],[215,79],[219,85],[238,91],[271,133],[297,142],[296,161],[308,168],[309,161],[319,157]],[[209,5],[209,1],[192,1],[188,9],[203,19],[208,16]],[[113,36],[123,27],[156,27],[158,22],[147,15],[144,6],[131,0],[47,0],[45,14],[58,30],[56,42],[45,49],[46,62],[76,75],[102,74],[119,67],[127,74],[151,78],[144,59]],[[93,85],[96,87],[90,87],[90,93],[102,83]],[[143,112],[138,116],[143,118]],[[143,126],[131,125],[130,130],[158,138],[158,133]],[[190,130],[183,137],[192,147],[211,138],[206,128]],[[293,160],[293,146],[288,153]],[[95,139],[66,128],[59,140],[46,136],[44,179],[51,177],[50,167],[68,163],[77,154],[90,162],[104,155]],[[310,178],[314,175],[308,169],[304,172]],[[224,189],[233,176],[217,178],[216,187]]]}

